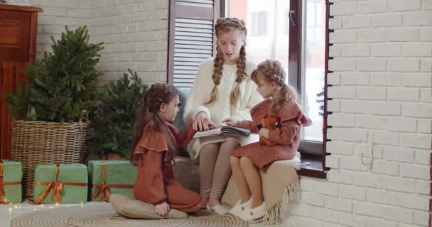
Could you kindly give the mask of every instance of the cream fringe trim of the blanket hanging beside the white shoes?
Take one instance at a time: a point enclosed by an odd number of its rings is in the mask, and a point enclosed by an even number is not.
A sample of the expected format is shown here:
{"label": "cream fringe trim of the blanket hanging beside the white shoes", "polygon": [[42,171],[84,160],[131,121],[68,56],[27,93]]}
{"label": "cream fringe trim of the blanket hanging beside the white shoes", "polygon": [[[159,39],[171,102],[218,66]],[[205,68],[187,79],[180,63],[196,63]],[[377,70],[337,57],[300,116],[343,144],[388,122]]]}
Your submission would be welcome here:
{"label": "cream fringe trim of the blanket hanging beside the white shoes", "polygon": [[264,217],[255,221],[255,223],[272,225],[281,224],[284,218],[290,213],[292,205],[297,204],[301,200],[301,187],[300,180],[295,182],[289,182],[286,184],[282,199],[276,204],[267,209],[267,213]]}

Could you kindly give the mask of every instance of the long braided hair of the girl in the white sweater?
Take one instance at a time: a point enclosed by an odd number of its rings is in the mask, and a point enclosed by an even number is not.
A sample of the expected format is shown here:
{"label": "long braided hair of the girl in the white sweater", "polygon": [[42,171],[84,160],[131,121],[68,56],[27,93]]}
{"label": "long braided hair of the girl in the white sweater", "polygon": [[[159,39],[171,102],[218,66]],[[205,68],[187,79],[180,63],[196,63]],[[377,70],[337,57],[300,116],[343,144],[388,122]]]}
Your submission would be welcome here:
{"label": "long braided hair of the girl in the white sweater", "polygon": [[[244,33],[244,36],[247,35],[247,28],[243,20],[239,20],[237,18],[219,18],[217,19],[217,22],[215,24],[215,33],[216,37],[219,37],[221,33],[227,33],[229,31],[241,31]],[[247,78],[246,74],[246,50],[245,45],[242,45],[242,48],[240,48],[239,53],[239,59],[237,60],[237,78],[235,81],[237,82],[237,85],[234,87],[234,90],[231,92],[231,96],[229,98],[229,104],[232,108],[237,106],[238,97],[240,96],[240,88],[239,84]],[[211,104],[216,100],[217,96],[217,86],[220,84],[220,78],[222,77],[222,69],[224,65],[224,57],[223,53],[221,52],[220,48],[217,47],[217,54],[214,60],[214,70],[212,79],[215,83],[215,87],[213,87],[212,92],[210,94],[210,100],[207,101],[205,104]]]}

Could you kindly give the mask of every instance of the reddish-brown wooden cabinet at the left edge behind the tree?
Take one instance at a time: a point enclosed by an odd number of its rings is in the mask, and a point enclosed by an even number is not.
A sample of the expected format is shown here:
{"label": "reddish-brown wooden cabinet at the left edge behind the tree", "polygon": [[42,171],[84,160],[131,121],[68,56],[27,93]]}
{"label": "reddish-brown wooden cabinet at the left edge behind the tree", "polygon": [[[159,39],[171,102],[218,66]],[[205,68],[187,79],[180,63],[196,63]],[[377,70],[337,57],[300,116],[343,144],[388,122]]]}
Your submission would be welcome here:
{"label": "reddish-brown wooden cabinet at the left edge behind the tree", "polygon": [[25,82],[22,71],[35,60],[41,8],[0,4],[0,159],[11,157],[11,118],[3,93]]}

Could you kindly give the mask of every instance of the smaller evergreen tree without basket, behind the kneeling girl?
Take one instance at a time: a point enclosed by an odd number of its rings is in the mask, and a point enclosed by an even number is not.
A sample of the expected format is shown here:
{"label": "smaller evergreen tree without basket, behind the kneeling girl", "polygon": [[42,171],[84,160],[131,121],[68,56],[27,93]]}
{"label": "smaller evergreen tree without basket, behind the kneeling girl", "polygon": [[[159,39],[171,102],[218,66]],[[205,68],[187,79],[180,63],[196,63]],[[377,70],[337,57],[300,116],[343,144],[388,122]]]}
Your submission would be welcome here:
{"label": "smaller evergreen tree without basket, behind the kneeling girl", "polygon": [[136,113],[148,87],[136,72],[128,71],[117,82],[105,84],[99,94],[89,148],[102,159],[127,159],[131,152]]}

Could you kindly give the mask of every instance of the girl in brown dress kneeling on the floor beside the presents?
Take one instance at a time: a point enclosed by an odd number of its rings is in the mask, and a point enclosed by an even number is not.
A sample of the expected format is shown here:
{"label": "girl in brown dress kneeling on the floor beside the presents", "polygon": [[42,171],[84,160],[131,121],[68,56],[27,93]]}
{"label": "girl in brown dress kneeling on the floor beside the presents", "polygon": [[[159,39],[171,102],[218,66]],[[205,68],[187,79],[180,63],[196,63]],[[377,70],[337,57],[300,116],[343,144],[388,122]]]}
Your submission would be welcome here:
{"label": "girl in brown dress kneeling on the floor beside the presents", "polygon": [[177,148],[187,145],[195,134],[192,127],[180,133],[171,124],[180,105],[178,90],[167,84],[153,84],[144,101],[132,143],[131,162],[138,165],[134,196],[155,204],[156,214],[161,216],[166,216],[170,208],[198,211],[201,196],[181,187],[171,167]]}

